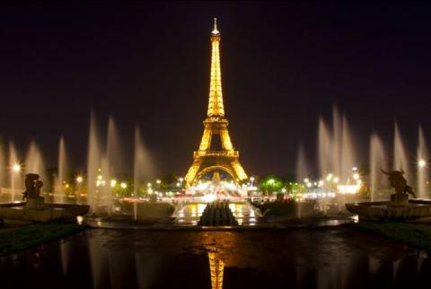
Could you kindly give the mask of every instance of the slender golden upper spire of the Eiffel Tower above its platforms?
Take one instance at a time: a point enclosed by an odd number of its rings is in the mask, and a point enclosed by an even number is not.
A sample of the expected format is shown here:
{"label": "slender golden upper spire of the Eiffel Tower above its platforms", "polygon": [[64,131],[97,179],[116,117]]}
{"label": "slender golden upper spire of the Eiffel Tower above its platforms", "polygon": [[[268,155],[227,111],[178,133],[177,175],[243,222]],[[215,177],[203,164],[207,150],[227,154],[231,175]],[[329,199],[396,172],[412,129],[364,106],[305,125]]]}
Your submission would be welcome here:
{"label": "slender golden upper spire of the Eiffel Tower above its platforms", "polygon": [[220,39],[220,32],[217,30],[217,19],[214,18],[214,29],[211,32],[211,77],[209,80],[207,117],[224,117]]}

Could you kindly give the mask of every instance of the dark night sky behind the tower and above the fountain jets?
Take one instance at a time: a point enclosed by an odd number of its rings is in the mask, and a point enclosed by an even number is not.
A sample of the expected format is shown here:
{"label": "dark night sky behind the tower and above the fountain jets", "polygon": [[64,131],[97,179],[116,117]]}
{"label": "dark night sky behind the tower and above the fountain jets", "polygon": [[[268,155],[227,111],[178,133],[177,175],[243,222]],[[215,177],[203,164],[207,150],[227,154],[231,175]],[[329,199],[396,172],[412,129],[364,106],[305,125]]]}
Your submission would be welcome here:
{"label": "dark night sky behind the tower and above the fountain jets", "polygon": [[[319,116],[346,113],[358,153],[397,120],[410,153],[431,128],[427,4],[28,4],[0,6],[0,132],[48,165],[58,137],[84,167],[91,109],[112,115],[130,162],[141,127],[159,172],[185,174],[207,109],[209,32],[222,33],[224,104],[246,171],[295,171]],[[73,157],[72,157],[73,156]],[[366,162],[366,160],[363,160]]]}

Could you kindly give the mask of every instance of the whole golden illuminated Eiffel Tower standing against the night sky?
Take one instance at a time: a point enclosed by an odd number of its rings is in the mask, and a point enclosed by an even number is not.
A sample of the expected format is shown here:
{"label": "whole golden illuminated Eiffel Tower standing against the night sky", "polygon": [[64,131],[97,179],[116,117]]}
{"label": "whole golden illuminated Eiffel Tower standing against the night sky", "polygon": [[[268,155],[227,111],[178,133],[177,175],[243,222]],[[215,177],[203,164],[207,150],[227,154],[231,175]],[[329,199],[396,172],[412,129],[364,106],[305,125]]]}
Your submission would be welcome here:
{"label": "whole golden illuminated Eiffel Tower standing against the night sky", "polygon": [[[210,171],[225,171],[235,182],[246,180],[247,174],[240,163],[240,153],[233,148],[224,117],[222,74],[220,70],[220,32],[216,18],[211,32],[211,77],[207,118],[204,120],[204,135],[198,151],[193,153],[193,163],[185,177],[187,185],[195,184],[199,178]],[[218,136],[219,147],[212,149]],[[214,145],[214,144],[213,144]]]}

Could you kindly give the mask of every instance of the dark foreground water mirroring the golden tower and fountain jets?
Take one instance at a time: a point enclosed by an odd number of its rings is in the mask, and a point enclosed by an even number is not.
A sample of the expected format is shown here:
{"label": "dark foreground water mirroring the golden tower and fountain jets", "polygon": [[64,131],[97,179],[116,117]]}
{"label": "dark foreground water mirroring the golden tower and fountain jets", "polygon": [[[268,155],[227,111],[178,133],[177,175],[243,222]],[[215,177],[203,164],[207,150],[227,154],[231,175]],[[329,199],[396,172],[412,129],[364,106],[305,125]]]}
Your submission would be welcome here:
{"label": "dark foreground water mirroring the golden tower and fountain jets", "polygon": [[[213,278],[210,275],[212,259]],[[87,230],[0,258],[0,288],[428,288],[431,261],[348,227],[259,232]],[[222,288],[218,285],[218,288]]]}

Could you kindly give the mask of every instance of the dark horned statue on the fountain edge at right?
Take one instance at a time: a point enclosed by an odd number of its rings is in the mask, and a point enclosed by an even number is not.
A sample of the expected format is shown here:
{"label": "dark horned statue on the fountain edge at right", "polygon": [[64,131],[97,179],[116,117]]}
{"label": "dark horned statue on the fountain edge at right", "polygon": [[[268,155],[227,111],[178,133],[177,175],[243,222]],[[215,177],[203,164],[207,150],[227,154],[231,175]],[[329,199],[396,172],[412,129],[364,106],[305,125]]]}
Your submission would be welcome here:
{"label": "dark horned statue on the fountain edge at right", "polygon": [[383,171],[380,169],[385,175],[388,176],[388,180],[390,181],[391,187],[395,188],[395,194],[391,195],[390,206],[408,206],[409,205],[409,194],[413,197],[415,193],[413,192],[413,188],[407,185],[407,180],[404,178],[404,171],[400,169],[400,171]]}

